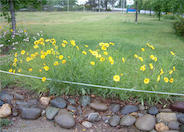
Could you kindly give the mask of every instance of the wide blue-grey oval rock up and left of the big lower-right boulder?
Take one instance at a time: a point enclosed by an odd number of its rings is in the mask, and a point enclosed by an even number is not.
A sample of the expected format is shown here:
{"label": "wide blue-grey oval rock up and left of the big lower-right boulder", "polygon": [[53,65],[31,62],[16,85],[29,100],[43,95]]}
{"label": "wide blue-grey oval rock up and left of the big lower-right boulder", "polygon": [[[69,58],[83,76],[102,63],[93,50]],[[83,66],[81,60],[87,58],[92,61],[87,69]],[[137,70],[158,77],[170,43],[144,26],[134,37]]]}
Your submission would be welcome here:
{"label": "wide blue-grey oval rock up and left of the big lower-right boulder", "polygon": [[122,108],[121,114],[122,115],[127,115],[129,113],[137,112],[137,111],[138,111],[137,106],[135,106],[135,105],[126,105],[125,107]]}

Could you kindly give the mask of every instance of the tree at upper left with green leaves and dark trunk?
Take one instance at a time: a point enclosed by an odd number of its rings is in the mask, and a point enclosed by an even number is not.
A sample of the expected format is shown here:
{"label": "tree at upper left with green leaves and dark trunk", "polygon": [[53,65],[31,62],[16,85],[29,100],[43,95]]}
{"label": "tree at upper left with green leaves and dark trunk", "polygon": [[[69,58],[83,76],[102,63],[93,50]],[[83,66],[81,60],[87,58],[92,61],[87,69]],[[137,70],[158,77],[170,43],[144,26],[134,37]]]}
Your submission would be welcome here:
{"label": "tree at upper left with green leaves and dark trunk", "polygon": [[16,11],[21,8],[33,7],[40,8],[41,5],[46,4],[46,0],[1,0],[2,6],[1,16],[4,16],[8,22],[11,22],[13,34],[16,32]]}

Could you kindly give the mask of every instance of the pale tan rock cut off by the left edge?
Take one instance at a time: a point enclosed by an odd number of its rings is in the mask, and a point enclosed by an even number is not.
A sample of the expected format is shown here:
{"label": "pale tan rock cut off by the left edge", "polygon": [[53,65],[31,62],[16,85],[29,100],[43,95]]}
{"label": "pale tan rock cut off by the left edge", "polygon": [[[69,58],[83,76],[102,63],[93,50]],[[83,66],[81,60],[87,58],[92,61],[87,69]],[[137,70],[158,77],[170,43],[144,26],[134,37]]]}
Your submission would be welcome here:
{"label": "pale tan rock cut off by the left edge", "polygon": [[3,104],[0,108],[0,118],[8,117],[11,115],[11,107],[9,104]]}

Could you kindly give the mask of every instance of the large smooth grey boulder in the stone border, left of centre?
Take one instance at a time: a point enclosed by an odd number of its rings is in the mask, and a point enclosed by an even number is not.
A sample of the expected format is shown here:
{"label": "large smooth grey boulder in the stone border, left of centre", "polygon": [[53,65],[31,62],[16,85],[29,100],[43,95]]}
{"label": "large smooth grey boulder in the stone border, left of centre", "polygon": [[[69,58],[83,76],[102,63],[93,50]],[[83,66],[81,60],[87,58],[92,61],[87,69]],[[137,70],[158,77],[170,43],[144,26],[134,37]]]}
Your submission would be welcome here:
{"label": "large smooth grey boulder in the stone border, left of centre", "polygon": [[73,128],[75,126],[75,120],[74,120],[73,116],[70,113],[68,113],[67,111],[59,112],[54,120],[62,128],[70,129],[70,128]]}

